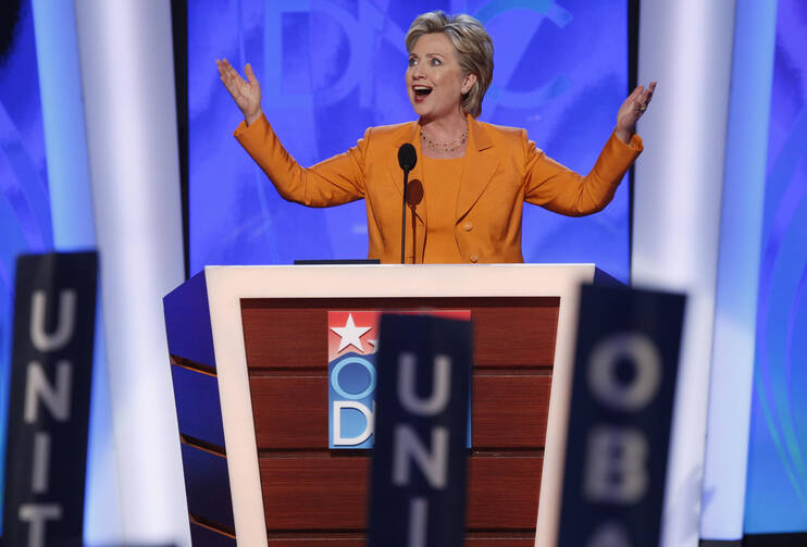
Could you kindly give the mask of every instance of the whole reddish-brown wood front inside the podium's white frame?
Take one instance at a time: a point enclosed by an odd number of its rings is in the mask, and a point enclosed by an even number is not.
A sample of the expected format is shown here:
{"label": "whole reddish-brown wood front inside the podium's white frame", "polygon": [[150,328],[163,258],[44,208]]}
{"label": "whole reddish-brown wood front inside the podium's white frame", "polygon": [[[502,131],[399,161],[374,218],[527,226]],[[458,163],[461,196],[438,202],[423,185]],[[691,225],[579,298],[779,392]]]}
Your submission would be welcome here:
{"label": "whole reddish-brown wood front inside the podium's white frame", "polygon": [[327,311],[470,309],[474,322],[473,547],[534,543],[557,298],[241,301],[272,547],[364,545],[369,459],[327,450]]}

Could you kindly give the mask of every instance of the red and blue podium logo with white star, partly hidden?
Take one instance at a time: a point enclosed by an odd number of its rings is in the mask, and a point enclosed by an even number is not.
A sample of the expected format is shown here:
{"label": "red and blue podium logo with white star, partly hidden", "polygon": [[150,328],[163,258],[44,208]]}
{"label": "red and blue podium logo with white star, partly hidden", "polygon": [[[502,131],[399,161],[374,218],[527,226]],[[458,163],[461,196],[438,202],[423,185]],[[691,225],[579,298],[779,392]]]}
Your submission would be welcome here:
{"label": "red and blue podium logo with white star, partly hidden", "polygon": [[[469,310],[404,313],[464,321],[471,319]],[[365,449],[373,447],[375,358],[378,348],[380,320],[381,312],[377,310],[328,312],[328,448]]]}

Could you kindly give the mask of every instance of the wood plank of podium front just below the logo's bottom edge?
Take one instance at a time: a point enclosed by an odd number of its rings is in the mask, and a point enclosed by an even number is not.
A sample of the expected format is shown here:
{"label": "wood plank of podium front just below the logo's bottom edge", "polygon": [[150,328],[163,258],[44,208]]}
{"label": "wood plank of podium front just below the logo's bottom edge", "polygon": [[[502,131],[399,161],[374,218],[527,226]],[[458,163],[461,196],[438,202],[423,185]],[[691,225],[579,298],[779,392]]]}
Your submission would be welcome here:
{"label": "wood plank of podium front just below the logo's bottom edge", "polygon": [[[368,458],[261,458],[259,465],[269,530],[367,526]],[[471,457],[469,527],[533,529],[542,465],[541,457]]]}

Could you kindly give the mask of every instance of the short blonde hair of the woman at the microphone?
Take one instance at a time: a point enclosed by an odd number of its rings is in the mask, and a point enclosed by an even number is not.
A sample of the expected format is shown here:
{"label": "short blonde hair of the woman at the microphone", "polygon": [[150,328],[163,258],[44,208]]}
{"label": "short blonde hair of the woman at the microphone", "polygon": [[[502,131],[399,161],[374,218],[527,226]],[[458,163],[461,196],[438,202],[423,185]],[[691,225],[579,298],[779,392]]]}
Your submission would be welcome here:
{"label": "short blonde hair of the woman at the microphone", "polygon": [[462,109],[473,117],[482,113],[482,99],[493,80],[493,40],[482,23],[464,13],[449,16],[431,11],[418,17],[407,32],[407,52],[424,34],[443,33],[454,43],[459,64],[465,74],[475,74],[473,87],[462,96]]}

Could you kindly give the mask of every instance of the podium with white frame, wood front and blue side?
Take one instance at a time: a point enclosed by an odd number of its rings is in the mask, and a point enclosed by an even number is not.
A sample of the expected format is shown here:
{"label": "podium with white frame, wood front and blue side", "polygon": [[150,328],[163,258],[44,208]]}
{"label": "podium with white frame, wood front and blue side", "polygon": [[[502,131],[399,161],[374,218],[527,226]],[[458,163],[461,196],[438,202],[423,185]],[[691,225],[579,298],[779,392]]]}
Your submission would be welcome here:
{"label": "podium with white frame, wood front and blue side", "polygon": [[470,310],[474,325],[465,544],[555,545],[579,287],[600,275],[206,268],[164,298],[194,545],[364,544],[370,455],[328,449],[327,314],[422,309]]}

